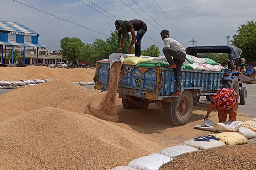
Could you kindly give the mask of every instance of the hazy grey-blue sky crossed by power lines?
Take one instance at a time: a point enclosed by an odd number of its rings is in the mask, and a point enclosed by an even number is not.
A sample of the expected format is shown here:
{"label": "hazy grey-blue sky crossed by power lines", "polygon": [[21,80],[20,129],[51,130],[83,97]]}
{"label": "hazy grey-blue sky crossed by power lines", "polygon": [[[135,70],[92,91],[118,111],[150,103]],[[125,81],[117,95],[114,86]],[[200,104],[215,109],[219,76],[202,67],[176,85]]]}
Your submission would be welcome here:
{"label": "hazy grey-blue sky crossed by power lines", "polygon": [[[114,21],[84,5],[78,0],[17,0],[42,11],[77,23],[84,27],[109,35],[115,31]],[[102,11],[87,0],[81,0],[109,17],[116,18]],[[225,45],[226,36],[236,34],[240,24],[256,19],[255,0],[155,0],[169,19],[167,19],[154,0],[134,0],[154,20],[152,20],[133,0],[122,0],[143,18],[134,13],[120,0],[90,0],[110,14],[122,20],[140,19],[147,24],[147,36],[161,42],[160,31],[167,29],[175,40],[188,47],[194,38],[198,46]],[[0,0],[0,20],[19,22],[40,34],[39,43],[50,50],[59,49],[59,41],[64,37],[76,37],[84,43],[92,43],[95,38],[105,40],[107,36],[87,30],[77,25],[60,20],[35,9],[26,7],[12,0]],[[157,27],[158,29],[156,29]],[[156,44],[160,51],[163,44],[144,37],[144,48]],[[195,43],[196,45],[196,43]],[[143,49],[142,49],[143,50]]]}

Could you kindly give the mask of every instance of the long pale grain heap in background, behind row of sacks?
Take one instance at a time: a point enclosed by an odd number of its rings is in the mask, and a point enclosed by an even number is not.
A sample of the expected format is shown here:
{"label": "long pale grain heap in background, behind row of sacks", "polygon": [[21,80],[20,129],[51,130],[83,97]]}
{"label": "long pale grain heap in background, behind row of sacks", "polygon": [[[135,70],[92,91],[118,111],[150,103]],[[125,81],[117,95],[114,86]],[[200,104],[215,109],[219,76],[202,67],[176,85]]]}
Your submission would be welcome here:
{"label": "long pale grain heap in background, behind row of sacks", "polygon": [[93,81],[95,69],[49,68],[45,66],[0,67],[0,80],[58,79],[68,81]]}

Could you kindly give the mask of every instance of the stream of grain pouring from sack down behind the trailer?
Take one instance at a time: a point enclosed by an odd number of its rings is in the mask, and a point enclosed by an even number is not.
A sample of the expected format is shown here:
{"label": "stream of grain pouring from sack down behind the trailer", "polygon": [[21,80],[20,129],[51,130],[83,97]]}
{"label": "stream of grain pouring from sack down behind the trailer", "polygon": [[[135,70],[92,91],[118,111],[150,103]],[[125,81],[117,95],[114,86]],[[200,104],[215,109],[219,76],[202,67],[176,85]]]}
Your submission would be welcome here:
{"label": "stream of grain pouring from sack down behind the trailer", "polygon": [[121,80],[121,61],[114,62],[111,66],[110,76],[109,76],[109,88],[107,94],[100,104],[100,110],[97,112],[94,111],[91,104],[88,104],[88,109],[90,110],[90,114],[96,116],[97,118],[104,119],[111,122],[118,121],[118,115],[115,109],[116,103],[116,94],[118,90],[118,84]]}

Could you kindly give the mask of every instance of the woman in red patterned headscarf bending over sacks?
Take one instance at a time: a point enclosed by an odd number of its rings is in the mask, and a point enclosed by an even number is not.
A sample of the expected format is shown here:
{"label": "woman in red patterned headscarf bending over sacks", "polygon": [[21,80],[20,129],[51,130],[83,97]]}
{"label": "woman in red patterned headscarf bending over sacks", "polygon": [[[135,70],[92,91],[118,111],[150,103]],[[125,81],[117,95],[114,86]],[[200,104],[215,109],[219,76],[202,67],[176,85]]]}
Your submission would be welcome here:
{"label": "woman in red patterned headscarf bending over sacks", "polygon": [[213,97],[211,97],[211,104],[204,119],[208,118],[213,108],[218,109],[219,122],[226,122],[228,114],[228,121],[236,121],[238,96],[235,90],[228,88],[220,89]]}

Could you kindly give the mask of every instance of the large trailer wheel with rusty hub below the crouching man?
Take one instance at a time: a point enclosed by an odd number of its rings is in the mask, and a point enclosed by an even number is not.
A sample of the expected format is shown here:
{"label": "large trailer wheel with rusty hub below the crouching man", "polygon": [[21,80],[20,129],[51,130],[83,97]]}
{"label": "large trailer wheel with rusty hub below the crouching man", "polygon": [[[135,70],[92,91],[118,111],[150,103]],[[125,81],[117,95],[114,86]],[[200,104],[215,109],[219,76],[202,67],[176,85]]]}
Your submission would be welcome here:
{"label": "large trailer wheel with rusty hub below the crouching man", "polygon": [[183,91],[180,97],[173,99],[172,103],[165,103],[164,110],[168,124],[174,126],[185,125],[191,114],[193,108],[193,96],[190,91]]}

